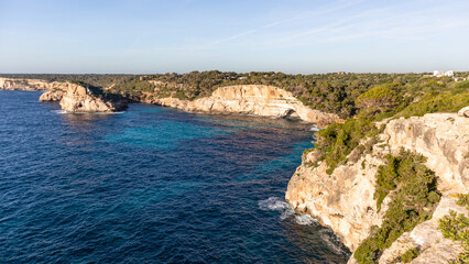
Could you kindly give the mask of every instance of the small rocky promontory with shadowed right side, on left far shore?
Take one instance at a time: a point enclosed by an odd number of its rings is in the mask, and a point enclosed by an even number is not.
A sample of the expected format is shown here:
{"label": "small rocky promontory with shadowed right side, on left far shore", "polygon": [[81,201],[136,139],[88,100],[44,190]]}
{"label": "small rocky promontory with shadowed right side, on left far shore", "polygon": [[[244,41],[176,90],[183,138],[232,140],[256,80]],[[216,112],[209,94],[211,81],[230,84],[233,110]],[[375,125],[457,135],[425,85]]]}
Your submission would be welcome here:
{"label": "small rocky promontory with shadowed right side, on left far shore", "polygon": [[62,110],[67,112],[113,112],[127,108],[127,101],[110,101],[94,95],[88,88],[68,84],[61,100]]}

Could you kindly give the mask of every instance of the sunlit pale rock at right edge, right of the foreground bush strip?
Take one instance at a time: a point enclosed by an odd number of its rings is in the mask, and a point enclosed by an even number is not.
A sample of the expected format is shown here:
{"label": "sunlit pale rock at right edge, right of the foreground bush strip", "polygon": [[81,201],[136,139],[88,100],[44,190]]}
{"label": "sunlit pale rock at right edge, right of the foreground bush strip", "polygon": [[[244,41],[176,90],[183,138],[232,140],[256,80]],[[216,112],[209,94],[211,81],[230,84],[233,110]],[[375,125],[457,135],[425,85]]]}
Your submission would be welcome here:
{"label": "sunlit pale rock at right edge, right of the foreground bush strip", "polygon": [[384,131],[391,151],[401,147],[427,157],[444,194],[469,190],[469,119],[456,113],[392,120]]}

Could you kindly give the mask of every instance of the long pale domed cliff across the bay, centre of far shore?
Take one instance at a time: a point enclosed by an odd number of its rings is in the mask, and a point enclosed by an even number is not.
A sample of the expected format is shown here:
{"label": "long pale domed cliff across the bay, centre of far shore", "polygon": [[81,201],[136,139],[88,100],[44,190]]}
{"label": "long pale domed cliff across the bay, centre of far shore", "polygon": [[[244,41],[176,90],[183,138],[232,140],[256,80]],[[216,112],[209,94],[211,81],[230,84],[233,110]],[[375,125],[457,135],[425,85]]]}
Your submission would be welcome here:
{"label": "long pale domed cliff across the bay, centre of far shore", "polygon": [[288,91],[263,85],[221,87],[215,90],[210,97],[194,101],[162,98],[151,102],[195,112],[299,118],[319,125],[340,121],[337,114],[325,113],[304,106]]}

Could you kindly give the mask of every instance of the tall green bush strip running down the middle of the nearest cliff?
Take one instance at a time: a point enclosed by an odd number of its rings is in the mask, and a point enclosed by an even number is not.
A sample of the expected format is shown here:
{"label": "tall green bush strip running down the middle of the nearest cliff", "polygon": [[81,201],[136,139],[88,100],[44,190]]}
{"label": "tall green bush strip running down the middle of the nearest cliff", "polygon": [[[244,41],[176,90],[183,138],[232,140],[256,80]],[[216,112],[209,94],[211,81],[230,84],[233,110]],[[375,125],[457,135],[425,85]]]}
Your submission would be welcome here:
{"label": "tall green bush strip running down the middle of the nearest cliff", "polygon": [[[388,156],[377,174],[377,202],[391,195],[381,228],[375,228],[356,250],[359,263],[375,263],[382,251],[403,232],[429,219],[440,199],[435,174],[423,164],[421,155],[401,150],[399,156]],[[381,199],[381,201],[380,201]],[[379,204],[380,205],[380,204]]]}

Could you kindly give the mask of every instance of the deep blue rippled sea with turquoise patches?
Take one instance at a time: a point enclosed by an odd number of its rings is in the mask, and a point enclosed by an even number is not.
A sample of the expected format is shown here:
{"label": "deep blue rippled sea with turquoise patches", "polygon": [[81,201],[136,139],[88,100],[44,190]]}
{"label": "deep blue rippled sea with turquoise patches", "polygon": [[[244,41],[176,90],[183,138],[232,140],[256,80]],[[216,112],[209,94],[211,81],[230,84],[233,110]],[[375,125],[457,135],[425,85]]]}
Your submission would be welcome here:
{"label": "deep blue rippled sea with turquoise patches", "polygon": [[284,200],[308,124],[0,91],[0,263],[345,263]]}

